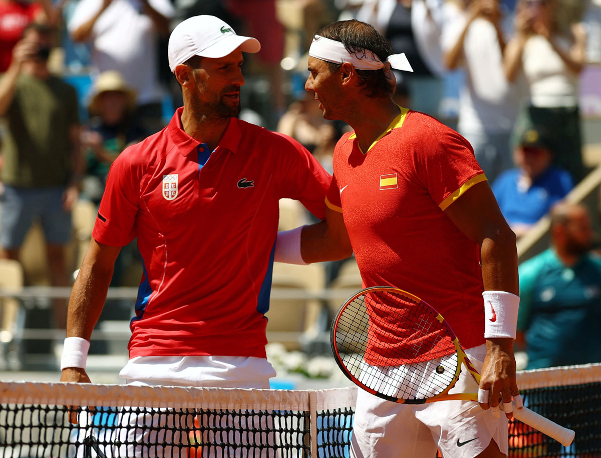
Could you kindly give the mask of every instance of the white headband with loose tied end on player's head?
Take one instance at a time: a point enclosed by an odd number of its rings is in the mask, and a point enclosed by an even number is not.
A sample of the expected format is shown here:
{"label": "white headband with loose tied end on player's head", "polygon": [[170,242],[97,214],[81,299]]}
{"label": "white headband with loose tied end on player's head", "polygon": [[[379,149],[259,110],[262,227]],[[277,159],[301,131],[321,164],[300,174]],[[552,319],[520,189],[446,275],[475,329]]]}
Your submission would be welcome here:
{"label": "white headband with loose tied end on player's head", "polygon": [[[360,54],[361,58],[357,54]],[[385,66],[378,56],[374,55],[370,50],[364,49],[353,54],[347,51],[344,44],[340,41],[330,40],[320,35],[315,35],[313,38],[313,42],[309,48],[309,55],[334,64],[349,62],[357,70],[377,70]],[[389,55],[386,62],[390,63],[393,69],[413,72],[404,53]]]}

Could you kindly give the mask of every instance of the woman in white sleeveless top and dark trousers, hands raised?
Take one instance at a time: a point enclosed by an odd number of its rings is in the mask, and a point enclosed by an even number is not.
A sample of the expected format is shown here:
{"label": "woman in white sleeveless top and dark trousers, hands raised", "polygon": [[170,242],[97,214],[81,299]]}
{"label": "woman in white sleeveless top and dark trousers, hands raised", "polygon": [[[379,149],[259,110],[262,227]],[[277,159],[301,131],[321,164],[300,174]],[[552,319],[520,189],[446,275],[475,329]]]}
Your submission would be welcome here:
{"label": "woman in white sleeveless top and dark trousers, hands raised", "polygon": [[523,75],[529,92],[514,139],[532,126],[548,127],[555,165],[569,171],[577,183],[585,174],[578,79],[585,63],[586,34],[582,23],[570,22],[569,17],[560,0],[520,0],[504,66],[509,81]]}

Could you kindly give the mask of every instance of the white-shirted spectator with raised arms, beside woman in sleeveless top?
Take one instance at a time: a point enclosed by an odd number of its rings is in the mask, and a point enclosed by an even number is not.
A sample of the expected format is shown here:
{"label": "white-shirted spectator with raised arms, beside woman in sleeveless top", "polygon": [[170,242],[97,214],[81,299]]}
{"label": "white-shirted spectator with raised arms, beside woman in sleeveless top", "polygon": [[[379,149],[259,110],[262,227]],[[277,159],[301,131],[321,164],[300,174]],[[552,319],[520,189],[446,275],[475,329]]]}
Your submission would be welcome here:
{"label": "white-shirted spectator with raised arms, beside woman in sleeveless top", "polygon": [[447,2],[442,34],[448,69],[465,70],[457,130],[474,148],[487,179],[513,165],[510,136],[518,109],[516,87],[505,78],[503,55],[511,23],[499,0]]}

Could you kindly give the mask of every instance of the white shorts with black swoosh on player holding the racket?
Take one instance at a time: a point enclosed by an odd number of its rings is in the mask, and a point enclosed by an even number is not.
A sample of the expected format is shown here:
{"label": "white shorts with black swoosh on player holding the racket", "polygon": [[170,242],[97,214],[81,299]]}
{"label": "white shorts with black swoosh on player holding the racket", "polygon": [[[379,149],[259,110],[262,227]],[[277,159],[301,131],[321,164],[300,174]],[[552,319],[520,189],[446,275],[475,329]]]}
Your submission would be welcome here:
{"label": "white shorts with black swoosh on player holding the racket", "polygon": [[[486,346],[466,350],[478,371]],[[478,392],[463,368],[450,393]],[[434,457],[474,458],[494,440],[508,455],[507,418],[493,417],[472,401],[440,401],[404,405],[383,400],[359,389],[353,422],[351,456],[355,458]]]}

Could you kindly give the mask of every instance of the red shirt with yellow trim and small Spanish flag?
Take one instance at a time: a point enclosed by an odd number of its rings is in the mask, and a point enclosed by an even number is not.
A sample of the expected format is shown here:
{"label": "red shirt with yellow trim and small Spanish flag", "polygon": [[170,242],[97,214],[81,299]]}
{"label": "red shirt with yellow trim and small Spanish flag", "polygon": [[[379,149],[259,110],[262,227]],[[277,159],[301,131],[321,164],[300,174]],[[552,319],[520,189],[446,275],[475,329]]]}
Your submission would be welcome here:
{"label": "red shirt with yellow trim and small Spanish flag", "polygon": [[480,248],[444,210],[486,177],[459,133],[401,110],[365,154],[354,132],[338,141],[328,203],[343,212],[365,287],[418,296],[474,347],[484,343]]}

